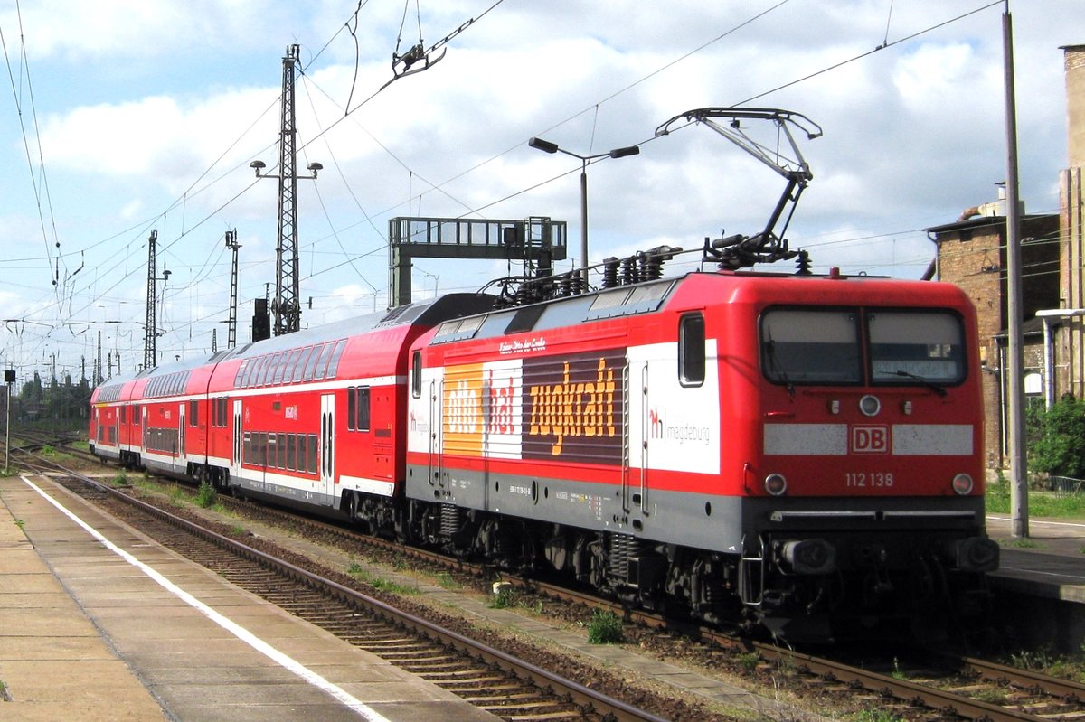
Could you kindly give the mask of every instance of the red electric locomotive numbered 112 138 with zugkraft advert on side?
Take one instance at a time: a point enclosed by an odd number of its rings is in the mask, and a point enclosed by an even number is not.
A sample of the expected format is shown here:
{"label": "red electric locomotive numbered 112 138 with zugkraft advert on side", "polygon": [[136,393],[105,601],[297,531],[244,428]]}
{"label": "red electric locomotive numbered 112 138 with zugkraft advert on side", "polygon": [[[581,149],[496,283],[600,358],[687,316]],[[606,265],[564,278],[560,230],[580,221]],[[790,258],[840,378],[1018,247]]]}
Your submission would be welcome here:
{"label": "red electric locomotive numbered 112 138 with zugkraft advert on side", "polygon": [[997,566],[955,286],[690,273],[411,353],[411,538],[791,639],[944,620]]}

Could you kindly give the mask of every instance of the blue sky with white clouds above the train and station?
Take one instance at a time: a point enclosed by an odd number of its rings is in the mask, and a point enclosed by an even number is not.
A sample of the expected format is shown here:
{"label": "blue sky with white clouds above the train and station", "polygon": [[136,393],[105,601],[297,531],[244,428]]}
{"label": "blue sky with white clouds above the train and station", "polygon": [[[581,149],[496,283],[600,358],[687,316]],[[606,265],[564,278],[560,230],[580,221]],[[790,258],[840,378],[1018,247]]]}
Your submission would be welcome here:
{"label": "blue sky with white clouds above the train and station", "polygon": [[[226,346],[230,254],[239,339],[275,283],[282,56],[297,75],[303,326],[383,309],[388,219],[569,222],[580,155],[590,257],[754,233],[782,179],[704,126],[703,106],[802,113],[814,179],[788,229],[815,270],[918,278],[923,229],[996,199],[1006,175],[1001,16],[984,0],[0,0],[0,345],[21,381],[142,363],[148,236],[157,232],[159,358]],[[1058,211],[1067,165],[1060,46],[1085,43],[1081,0],[1014,2],[1021,196]],[[473,23],[469,21],[474,18]],[[461,31],[457,33],[460,29]],[[394,82],[393,54],[444,56]],[[417,66],[416,66],[417,67]],[[388,83],[388,85],[386,85]],[[774,142],[774,129],[764,137]],[[751,132],[761,132],[751,129]],[[559,265],[573,267],[574,260]],[[673,272],[695,268],[682,256]],[[790,270],[791,263],[787,265]],[[416,299],[475,291],[503,262],[419,260]],[[512,268],[518,272],[519,268]],[[111,354],[113,354],[111,357]]]}

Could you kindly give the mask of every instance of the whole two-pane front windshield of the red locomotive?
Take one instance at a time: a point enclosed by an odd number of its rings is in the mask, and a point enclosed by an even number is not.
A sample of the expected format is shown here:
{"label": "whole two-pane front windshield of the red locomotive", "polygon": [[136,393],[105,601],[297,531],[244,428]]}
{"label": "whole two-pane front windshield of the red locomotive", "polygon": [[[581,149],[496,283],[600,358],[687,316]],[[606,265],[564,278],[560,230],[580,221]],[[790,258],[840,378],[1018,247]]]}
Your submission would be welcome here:
{"label": "whole two-pane front windshield of the red locomotive", "polygon": [[965,378],[963,338],[948,311],[771,309],[762,370],[787,385],[953,385]]}

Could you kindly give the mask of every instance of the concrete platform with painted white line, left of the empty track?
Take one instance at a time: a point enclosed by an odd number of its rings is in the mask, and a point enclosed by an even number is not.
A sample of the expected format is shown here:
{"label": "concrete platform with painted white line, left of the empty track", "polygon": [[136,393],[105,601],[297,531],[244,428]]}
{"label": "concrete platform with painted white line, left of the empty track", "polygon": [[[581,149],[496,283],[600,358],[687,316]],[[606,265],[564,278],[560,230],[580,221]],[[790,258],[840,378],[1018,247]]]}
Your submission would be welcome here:
{"label": "concrete platform with painted white line, left of the empty track", "polygon": [[2,720],[496,719],[29,476],[0,479],[0,681]]}

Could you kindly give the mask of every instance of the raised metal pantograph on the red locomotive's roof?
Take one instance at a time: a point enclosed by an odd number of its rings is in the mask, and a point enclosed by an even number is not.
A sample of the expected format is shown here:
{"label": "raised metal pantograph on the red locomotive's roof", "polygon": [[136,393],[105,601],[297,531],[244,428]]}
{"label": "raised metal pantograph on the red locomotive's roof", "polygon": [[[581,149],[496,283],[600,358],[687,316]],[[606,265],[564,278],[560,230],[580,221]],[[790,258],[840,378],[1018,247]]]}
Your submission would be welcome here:
{"label": "raised metal pantograph on the red locomotive's roof", "polygon": [[[730,123],[718,123],[729,119]],[[743,120],[768,120],[776,126],[776,144],[768,145],[750,136],[742,125]],[[742,234],[710,242],[705,238],[704,256],[719,262],[720,268],[748,268],[755,263],[771,263],[778,260],[789,260],[801,256],[801,272],[808,269],[808,261],[802,252],[790,250],[783,233],[791,223],[799,198],[806,185],[814,178],[809,165],[803,157],[799,143],[795,141],[794,129],[802,131],[807,140],[821,136],[821,127],[801,113],[766,107],[701,107],[676,115],[655,129],[655,137],[667,136],[677,130],[678,124],[685,121],[704,124],[731,143],[752,155],[754,158],[782,176],[787,186],[780,194],[780,199],[773,209],[764,230],[753,236]],[[790,152],[781,150],[786,141]],[[788,210],[788,206],[791,206]],[[777,223],[787,210],[787,219],[779,235],[775,232]]]}

